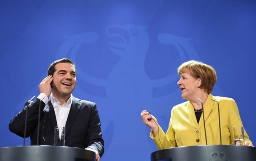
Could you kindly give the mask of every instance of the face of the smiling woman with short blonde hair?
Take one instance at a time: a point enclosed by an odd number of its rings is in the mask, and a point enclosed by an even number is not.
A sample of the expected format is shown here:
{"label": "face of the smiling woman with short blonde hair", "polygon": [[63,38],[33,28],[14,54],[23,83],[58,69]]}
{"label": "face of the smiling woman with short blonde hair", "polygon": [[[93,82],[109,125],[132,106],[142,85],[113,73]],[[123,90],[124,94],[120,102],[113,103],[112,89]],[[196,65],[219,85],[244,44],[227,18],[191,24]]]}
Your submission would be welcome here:
{"label": "face of the smiling woman with short blonde hair", "polygon": [[184,72],[180,75],[180,80],[177,85],[181,90],[181,98],[192,100],[195,99],[196,89],[200,86],[199,78],[192,77],[188,72]]}

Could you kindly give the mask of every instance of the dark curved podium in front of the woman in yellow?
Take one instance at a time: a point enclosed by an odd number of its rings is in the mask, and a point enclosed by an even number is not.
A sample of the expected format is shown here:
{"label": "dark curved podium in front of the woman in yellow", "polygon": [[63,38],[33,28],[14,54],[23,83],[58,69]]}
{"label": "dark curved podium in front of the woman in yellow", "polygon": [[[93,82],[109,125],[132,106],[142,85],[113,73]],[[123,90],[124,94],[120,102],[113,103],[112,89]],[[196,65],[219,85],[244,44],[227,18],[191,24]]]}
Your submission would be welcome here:
{"label": "dark curved podium in front of the woman in yellow", "polygon": [[256,147],[198,145],[151,153],[151,161],[256,161]]}

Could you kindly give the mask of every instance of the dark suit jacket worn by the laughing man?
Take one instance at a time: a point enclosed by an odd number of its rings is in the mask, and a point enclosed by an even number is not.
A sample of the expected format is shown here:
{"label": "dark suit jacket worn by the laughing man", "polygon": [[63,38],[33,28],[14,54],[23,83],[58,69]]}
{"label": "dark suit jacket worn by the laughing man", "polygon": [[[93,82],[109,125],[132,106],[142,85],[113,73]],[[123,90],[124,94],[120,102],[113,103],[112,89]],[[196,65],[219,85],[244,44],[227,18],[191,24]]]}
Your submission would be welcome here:
{"label": "dark suit jacket worn by the laughing man", "polygon": [[[41,104],[41,106],[40,106]],[[25,118],[27,111],[26,137],[30,137],[31,145],[37,145],[38,113],[40,110],[40,131],[38,145],[53,145],[54,127],[57,126],[52,103],[47,105],[38,98],[29,103],[9,123],[9,130],[24,137]],[[92,148],[102,156],[104,141],[102,139],[101,123],[96,104],[73,97],[66,123],[65,146]]]}

